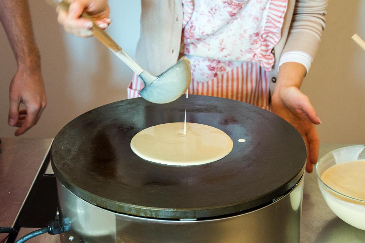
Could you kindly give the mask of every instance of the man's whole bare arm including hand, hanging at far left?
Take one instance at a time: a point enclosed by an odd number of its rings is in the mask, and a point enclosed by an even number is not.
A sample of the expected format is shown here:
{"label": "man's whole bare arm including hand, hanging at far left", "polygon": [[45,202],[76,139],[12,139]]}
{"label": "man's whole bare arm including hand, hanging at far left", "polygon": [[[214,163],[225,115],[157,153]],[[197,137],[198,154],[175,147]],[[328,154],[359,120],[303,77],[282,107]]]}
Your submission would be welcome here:
{"label": "man's whole bare arm including hand, hanging at far left", "polygon": [[[18,70],[10,83],[8,123],[18,136],[34,126],[46,107],[41,62],[27,0],[0,0],[0,21],[14,52]],[[26,109],[19,111],[20,103]]]}

